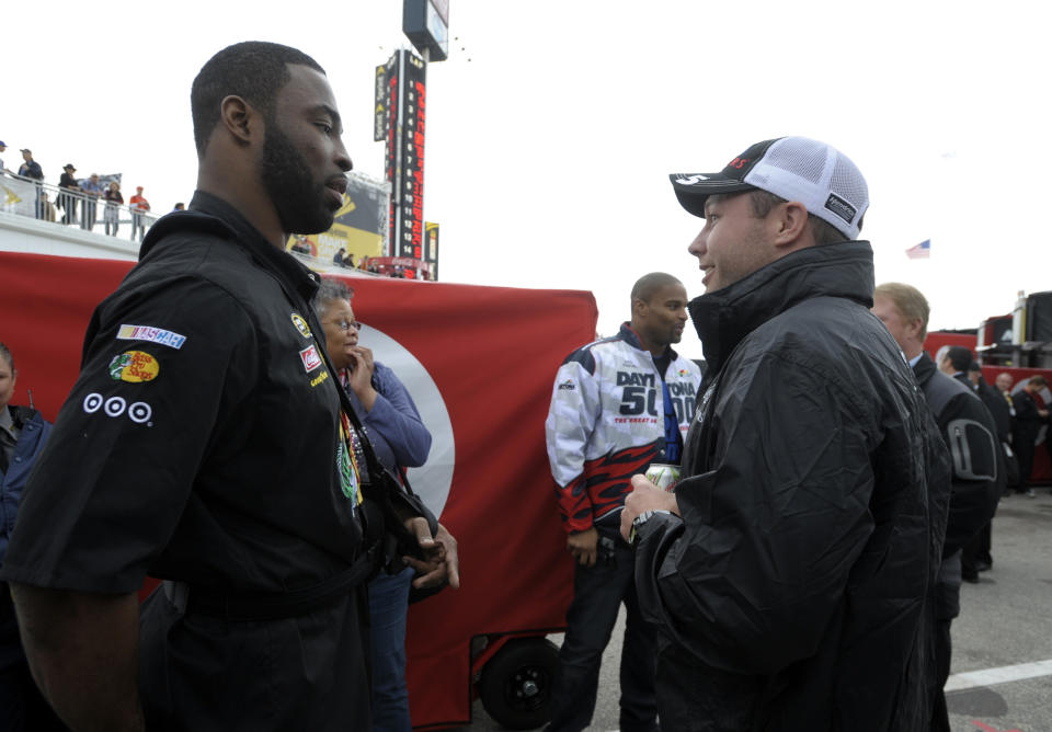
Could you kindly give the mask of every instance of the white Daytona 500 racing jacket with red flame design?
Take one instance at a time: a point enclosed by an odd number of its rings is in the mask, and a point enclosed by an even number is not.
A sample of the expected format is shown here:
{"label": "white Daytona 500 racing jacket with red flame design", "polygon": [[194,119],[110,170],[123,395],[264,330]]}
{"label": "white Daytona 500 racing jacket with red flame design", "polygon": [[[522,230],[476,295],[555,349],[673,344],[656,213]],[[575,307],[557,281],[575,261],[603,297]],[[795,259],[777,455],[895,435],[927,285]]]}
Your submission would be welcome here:
{"label": "white Daytona 500 racing jacket with red flame design", "polygon": [[[670,348],[665,382],[686,435],[701,369]],[[629,480],[665,455],[661,374],[628,323],[578,348],[559,367],[545,421],[548,460],[568,533],[618,512]]]}

